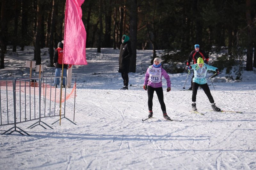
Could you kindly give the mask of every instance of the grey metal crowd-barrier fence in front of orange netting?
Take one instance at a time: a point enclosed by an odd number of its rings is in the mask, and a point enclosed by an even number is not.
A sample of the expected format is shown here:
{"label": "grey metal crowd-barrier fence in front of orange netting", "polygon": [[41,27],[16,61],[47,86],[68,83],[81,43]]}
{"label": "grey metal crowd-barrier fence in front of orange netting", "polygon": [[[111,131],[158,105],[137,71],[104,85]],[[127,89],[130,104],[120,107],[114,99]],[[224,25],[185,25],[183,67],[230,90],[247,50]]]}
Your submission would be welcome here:
{"label": "grey metal crowd-barrier fence in front of orange netting", "polygon": [[[51,126],[41,121],[41,118],[44,117],[60,116],[60,119],[56,122],[63,118],[70,121],[65,117],[66,88],[63,93],[62,91],[64,88],[61,90],[60,88],[55,88],[52,86],[54,78],[61,77],[0,80],[0,126],[14,125],[14,127],[5,131],[3,134],[9,131],[9,134],[17,131],[22,135],[24,135],[23,133],[29,135],[27,132],[17,127],[17,124],[32,120],[38,121],[28,128],[34,128],[40,125],[46,129],[41,124],[43,123],[44,125],[53,129]],[[65,80],[64,85],[66,85],[66,77],[63,78]],[[47,83],[50,83],[50,85]],[[61,106],[62,102],[64,102],[64,106]],[[62,107],[64,109],[64,114],[61,114]],[[59,113],[56,113],[56,108],[59,109]],[[53,122],[52,124],[56,122]],[[19,129],[21,132],[17,129]]]}

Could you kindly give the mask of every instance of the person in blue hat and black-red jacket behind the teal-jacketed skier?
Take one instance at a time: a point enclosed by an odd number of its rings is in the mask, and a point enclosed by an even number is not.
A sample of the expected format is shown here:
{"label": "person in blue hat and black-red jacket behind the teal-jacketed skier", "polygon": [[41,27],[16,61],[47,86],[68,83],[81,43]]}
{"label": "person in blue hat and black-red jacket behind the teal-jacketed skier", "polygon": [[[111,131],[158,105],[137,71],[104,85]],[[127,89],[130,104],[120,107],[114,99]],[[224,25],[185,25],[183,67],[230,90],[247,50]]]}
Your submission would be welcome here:
{"label": "person in blue hat and black-red jacket behind the teal-jacketed skier", "polygon": [[[195,44],[195,50],[191,51],[190,55],[188,56],[187,66],[190,65],[192,59],[193,59],[193,64],[196,64],[197,59],[199,57],[203,58],[204,63],[206,64],[208,63],[209,56],[203,50],[200,49],[200,46],[198,44]],[[191,79],[191,86],[188,88],[188,90],[192,90],[193,78],[194,78],[194,75]]]}

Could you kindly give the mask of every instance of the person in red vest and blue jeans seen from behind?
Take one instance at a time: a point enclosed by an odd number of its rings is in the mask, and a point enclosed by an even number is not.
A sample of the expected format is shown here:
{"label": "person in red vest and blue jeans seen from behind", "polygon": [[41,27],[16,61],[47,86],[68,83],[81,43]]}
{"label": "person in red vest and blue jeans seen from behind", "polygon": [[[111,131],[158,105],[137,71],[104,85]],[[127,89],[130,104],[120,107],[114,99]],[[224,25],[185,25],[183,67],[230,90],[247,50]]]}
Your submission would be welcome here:
{"label": "person in red vest and blue jeans seen from behind", "polygon": [[[58,43],[58,48],[54,51],[53,64],[55,66],[55,77],[60,77],[63,64],[63,43]],[[67,77],[68,64],[63,64],[63,77]],[[65,78],[62,79],[62,87],[65,87]],[[60,78],[54,78],[54,87],[60,85]]]}

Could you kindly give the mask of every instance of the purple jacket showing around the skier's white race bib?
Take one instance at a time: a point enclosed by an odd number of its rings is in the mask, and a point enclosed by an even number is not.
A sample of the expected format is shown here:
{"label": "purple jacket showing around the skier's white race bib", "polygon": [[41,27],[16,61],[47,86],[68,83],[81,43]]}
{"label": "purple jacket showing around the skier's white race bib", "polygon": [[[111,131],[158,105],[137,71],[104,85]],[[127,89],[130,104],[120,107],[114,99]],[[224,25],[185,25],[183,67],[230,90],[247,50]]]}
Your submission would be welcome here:
{"label": "purple jacket showing around the skier's white race bib", "polygon": [[[152,65],[154,67],[154,65]],[[170,76],[167,74],[167,72],[161,67],[161,81],[159,83],[152,83],[151,81],[148,81],[149,78],[149,68],[145,74],[145,80],[144,80],[144,85],[150,85],[151,87],[158,88],[162,87],[162,76],[166,79],[167,87],[171,87],[171,81],[170,81]]]}

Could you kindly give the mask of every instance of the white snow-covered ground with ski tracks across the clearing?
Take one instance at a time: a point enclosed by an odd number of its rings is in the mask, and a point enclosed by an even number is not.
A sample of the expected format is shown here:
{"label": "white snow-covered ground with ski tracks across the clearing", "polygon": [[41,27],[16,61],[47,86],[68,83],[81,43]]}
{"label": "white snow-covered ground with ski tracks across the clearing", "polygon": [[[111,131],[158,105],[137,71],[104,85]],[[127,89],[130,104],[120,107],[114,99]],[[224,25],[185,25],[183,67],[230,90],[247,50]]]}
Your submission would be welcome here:
{"label": "white snow-covered ground with ski tracks across the clearing", "polygon": [[[86,49],[88,65],[73,67],[77,125],[65,119],[61,125],[51,125],[54,129],[26,129],[31,122],[18,124],[31,136],[0,135],[0,169],[256,169],[256,70],[244,71],[241,82],[227,82],[221,73],[213,78],[216,91],[208,80],[216,106],[242,114],[210,111],[203,90],[197,93],[197,109],[205,115],[189,112],[192,91],[182,89],[184,72],[169,74],[172,91],[164,91],[168,115],[182,122],[164,120],[156,94],[157,119],[142,122],[148,115],[147,92],[140,87],[118,90],[123,86],[118,55],[118,50],[109,48],[100,54],[95,48]],[[148,50],[137,51],[136,73],[129,73],[129,84],[143,86],[151,55]],[[0,79],[28,78],[29,68],[24,66],[31,59],[33,48],[9,50]],[[44,76],[54,76],[47,48],[42,49],[42,63]],[[33,71],[33,76],[38,72]],[[66,108],[66,117],[73,120],[74,99],[67,100]],[[47,124],[56,120],[43,118]],[[0,126],[0,133],[11,127]]]}

